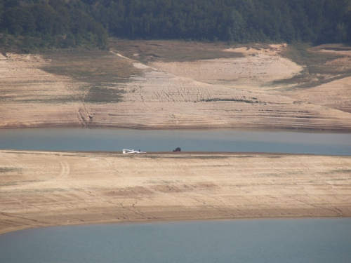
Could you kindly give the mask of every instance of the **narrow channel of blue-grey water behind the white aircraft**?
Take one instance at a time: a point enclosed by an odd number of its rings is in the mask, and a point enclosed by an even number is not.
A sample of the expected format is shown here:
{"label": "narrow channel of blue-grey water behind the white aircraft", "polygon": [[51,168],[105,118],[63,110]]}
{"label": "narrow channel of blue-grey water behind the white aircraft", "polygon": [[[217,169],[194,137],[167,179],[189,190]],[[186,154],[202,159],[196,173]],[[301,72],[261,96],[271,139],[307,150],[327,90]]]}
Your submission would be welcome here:
{"label": "narrow channel of blue-grey water behind the white aircraft", "polygon": [[0,149],[58,151],[256,151],[351,155],[351,133],[243,130],[27,128],[0,130]]}

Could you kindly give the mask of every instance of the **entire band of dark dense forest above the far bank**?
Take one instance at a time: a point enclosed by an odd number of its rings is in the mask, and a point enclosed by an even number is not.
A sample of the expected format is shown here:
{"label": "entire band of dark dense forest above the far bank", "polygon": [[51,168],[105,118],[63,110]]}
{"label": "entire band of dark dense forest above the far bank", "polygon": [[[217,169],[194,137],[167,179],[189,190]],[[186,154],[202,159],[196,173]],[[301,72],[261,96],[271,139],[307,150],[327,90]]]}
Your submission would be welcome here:
{"label": "entire band of dark dense forest above the far bank", "polygon": [[108,36],[345,43],[351,0],[0,0],[0,33],[0,46],[24,48],[103,48]]}

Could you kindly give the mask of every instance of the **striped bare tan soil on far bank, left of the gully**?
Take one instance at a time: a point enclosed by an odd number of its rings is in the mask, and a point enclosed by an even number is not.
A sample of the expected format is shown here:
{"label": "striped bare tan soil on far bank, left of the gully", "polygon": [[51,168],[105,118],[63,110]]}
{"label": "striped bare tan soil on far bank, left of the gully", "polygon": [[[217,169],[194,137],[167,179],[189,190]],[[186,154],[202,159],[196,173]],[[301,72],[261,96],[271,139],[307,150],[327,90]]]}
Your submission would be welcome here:
{"label": "striped bare tan soil on far bank, left of the gully", "polygon": [[0,128],[77,126],[86,88],[39,69],[39,55],[0,54]]}

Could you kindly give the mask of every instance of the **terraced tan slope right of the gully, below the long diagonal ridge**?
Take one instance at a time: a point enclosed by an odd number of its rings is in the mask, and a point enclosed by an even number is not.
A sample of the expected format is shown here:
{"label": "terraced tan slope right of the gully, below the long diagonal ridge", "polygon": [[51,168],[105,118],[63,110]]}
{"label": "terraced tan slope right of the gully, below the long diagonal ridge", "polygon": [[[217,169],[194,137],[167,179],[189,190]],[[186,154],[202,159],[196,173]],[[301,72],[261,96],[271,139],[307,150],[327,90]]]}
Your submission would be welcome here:
{"label": "terraced tan slope right of the gully, below the long diagonal ridge", "polygon": [[[349,130],[351,115],[288,97],[225,88],[145,69],[124,100],[89,105],[93,125],[133,128],[307,128]],[[106,119],[102,119],[103,111]],[[95,119],[95,117],[97,117]]]}

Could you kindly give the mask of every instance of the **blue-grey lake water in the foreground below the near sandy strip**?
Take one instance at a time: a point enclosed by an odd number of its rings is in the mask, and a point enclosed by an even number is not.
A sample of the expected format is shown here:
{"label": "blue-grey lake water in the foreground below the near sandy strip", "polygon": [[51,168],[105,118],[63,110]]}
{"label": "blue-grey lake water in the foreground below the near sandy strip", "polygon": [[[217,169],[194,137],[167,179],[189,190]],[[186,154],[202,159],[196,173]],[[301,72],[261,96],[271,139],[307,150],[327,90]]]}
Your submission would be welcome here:
{"label": "blue-grey lake water in the foreground below the near sandy strip", "polygon": [[0,235],[3,263],[351,262],[351,219],[100,224]]}

